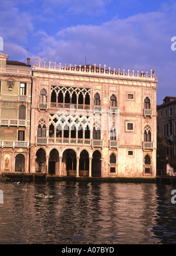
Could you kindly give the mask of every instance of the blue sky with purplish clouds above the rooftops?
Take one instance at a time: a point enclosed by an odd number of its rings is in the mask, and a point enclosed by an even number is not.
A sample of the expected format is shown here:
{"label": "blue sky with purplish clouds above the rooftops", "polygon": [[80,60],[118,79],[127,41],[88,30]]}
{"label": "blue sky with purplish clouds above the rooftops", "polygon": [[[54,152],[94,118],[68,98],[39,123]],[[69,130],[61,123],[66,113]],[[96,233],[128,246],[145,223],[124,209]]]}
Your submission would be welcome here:
{"label": "blue sky with purplish clouds above the rooftops", "polygon": [[[96,62],[156,70],[157,104],[176,96],[176,2],[151,0],[0,0],[0,36],[9,59]],[[175,46],[176,48],[176,46]]]}

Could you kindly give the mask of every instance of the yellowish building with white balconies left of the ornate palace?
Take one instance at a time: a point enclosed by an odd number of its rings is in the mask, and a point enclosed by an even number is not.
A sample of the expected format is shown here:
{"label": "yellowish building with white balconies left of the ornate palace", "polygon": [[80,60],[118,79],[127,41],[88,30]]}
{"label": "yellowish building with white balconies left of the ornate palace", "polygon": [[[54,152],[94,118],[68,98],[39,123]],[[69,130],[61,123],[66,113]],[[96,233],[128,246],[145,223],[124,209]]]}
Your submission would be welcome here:
{"label": "yellowish building with white balconies left of the ornate palace", "polygon": [[0,53],[0,174],[29,172],[31,65]]}

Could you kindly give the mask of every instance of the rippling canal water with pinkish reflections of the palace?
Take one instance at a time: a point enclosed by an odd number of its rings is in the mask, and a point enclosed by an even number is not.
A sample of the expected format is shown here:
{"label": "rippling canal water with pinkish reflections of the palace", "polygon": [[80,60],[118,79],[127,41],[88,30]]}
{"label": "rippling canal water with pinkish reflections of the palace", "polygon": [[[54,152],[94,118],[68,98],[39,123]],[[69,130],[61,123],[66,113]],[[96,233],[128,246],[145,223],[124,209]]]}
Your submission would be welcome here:
{"label": "rippling canal water with pinkish reflections of the palace", "polygon": [[175,243],[172,186],[0,183],[0,243]]}

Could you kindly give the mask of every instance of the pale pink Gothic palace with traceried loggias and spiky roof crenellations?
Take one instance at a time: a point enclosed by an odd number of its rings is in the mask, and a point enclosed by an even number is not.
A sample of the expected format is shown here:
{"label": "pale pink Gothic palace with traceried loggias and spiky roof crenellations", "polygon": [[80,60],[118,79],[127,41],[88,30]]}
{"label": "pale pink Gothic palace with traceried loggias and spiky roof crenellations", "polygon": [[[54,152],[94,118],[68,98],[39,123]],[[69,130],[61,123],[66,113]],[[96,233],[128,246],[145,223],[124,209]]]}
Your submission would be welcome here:
{"label": "pale pink Gothic palace with traceried loggias and spiky roof crenellations", "polygon": [[155,177],[157,82],[152,69],[134,74],[35,59],[30,171]]}

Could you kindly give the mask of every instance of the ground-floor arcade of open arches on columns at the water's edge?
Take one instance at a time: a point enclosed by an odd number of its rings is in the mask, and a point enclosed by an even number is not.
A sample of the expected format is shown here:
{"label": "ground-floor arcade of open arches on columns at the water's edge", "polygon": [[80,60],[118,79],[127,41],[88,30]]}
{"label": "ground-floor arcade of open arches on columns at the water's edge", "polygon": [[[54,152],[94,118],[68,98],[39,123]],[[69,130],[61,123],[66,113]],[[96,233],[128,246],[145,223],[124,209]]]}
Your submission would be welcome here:
{"label": "ground-floor arcade of open arches on columns at the water's edge", "polygon": [[57,149],[52,149],[49,156],[43,148],[36,152],[35,171],[49,175],[75,177],[101,177],[101,153],[96,150],[89,157],[86,149],[77,157],[73,149],[66,149],[59,156]]}

